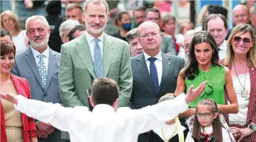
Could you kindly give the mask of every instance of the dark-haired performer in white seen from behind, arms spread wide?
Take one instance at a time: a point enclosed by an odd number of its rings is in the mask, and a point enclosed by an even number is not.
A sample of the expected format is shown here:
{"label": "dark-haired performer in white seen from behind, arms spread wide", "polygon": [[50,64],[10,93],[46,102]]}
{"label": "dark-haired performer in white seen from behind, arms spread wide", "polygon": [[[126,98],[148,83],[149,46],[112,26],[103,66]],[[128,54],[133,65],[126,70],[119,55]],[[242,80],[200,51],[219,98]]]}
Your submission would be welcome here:
{"label": "dark-haired performer in white seen from behind, arms spread wide", "polygon": [[186,111],[187,104],[204,91],[206,82],[194,90],[191,86],[187,95],[182,93],[173,100],[132,110],[129,107],[117,109],[119,88],[110,78],[94,79],[89,99],[94,107],[92,112],[85,106],[63,107],[22,95],[14,97],[10,93],[1,93],[1,97],[14,103],[22,113],[68,131],[72,142],[135,142],[140,133],[161,127]]}

